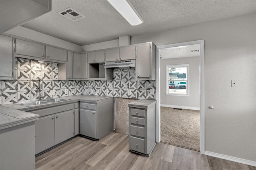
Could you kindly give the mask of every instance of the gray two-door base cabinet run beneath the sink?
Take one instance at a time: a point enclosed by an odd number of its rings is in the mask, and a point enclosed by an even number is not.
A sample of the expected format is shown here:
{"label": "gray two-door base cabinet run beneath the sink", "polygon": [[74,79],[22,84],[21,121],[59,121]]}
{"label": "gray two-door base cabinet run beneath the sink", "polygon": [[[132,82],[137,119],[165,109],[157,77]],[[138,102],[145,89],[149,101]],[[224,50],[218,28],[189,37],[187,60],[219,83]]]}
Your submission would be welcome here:
{"label": "gray two-door base cabinet run beneath the sink", "polygon": [[78,107],[79,103],[70,103],[28,110],[40,115],[35,121],[36,154],[79,134]]}

